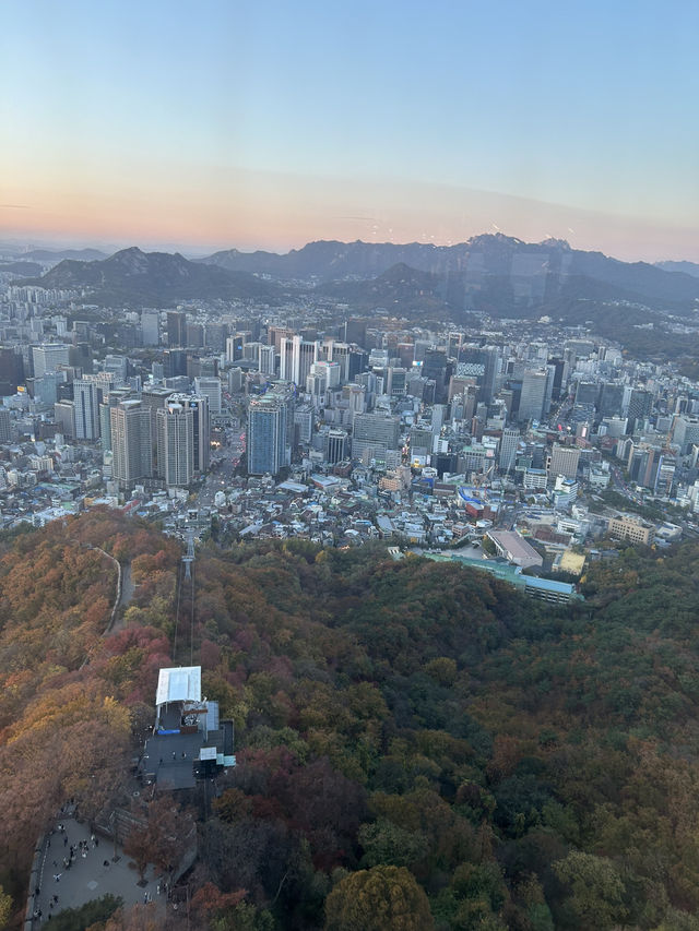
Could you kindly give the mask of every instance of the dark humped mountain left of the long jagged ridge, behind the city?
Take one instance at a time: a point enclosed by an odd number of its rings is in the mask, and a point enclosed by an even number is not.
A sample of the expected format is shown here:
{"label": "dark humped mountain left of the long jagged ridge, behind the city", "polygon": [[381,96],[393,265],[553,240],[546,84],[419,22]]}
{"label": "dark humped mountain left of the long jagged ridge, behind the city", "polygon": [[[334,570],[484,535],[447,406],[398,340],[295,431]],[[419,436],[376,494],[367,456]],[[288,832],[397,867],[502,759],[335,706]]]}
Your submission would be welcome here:
{"label": "dark humped mountain left of the long jagged ridge, behind the city", "polygon": [[64,259],[40,278],[23,279],[44,288],[90,290],[95,303],[151,303],[175,300],[274,299],[275,285],[247,272],[229,272],[216,265],[190,262],[179,252],[143,252],[133,246],[103,261]]}

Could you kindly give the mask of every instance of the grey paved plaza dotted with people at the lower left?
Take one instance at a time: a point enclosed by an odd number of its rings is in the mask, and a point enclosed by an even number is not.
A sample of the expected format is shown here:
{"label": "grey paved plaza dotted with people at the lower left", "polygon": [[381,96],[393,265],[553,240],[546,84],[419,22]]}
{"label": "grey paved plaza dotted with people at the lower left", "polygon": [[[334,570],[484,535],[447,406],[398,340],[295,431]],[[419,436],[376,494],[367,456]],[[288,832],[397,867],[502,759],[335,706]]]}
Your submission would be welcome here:
{"label": "grey paved plaza dotted with people at the lower left", "polygon": [[[44,838],[39,863],[39,894],[34,893],[33,911],[42,911],[42,918],[35,918],[34,928],[40,927],[51,915],[57,915],[63,908],[76,908],[94,898],[100,898],[107,893],[120,896],[125,906],[135,905],[146,900],[155,903],[158,911],[165,914],[165,893],[163,883],[149,867],[145,874],[146,885],[139,885],[139,872],[132,861],[117,848],[117,860],[114,860],[115,848],[110,840],[95,836],[86,824],[76,822],[68,816],[58,822],[63,825],[63,832],[56,829]],[[68,843],[66,843],[66,839]],[[83,856],[80,842],[87,845]],[[70,847],[73,847],[74,859],[69,868],[64,859],[70,861]],[[107,863],[107,866],[105,866]],[[59,875],[57,881],[55,878]],[[52,902],[58,896],[58,904]]]}

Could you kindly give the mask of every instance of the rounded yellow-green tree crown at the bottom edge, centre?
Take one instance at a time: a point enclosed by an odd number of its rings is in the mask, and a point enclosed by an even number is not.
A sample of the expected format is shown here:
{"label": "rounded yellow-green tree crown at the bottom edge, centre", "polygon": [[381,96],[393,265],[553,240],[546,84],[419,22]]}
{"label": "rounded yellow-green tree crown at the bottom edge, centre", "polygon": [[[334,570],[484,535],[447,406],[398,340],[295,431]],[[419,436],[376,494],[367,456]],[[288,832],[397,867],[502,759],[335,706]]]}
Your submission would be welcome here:
{"label": "rounded yellow-green tree crown at the bottom edge, centre", "polygon": [[404,867],[374,867],[345,876],[325,902],[325,931],[430,931],[424,890]]}

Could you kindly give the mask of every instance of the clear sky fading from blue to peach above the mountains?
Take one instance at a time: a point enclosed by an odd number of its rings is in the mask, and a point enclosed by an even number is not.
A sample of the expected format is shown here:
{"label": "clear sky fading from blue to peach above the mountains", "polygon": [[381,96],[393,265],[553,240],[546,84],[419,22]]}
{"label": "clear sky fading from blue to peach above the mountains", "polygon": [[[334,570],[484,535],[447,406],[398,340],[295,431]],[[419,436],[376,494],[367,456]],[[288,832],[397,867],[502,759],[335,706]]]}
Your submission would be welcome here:
{"label": "clear sky fading from blue to peach above the mountains", "polygon": [[3,0],[0,240],[699,262],[696,0]]}

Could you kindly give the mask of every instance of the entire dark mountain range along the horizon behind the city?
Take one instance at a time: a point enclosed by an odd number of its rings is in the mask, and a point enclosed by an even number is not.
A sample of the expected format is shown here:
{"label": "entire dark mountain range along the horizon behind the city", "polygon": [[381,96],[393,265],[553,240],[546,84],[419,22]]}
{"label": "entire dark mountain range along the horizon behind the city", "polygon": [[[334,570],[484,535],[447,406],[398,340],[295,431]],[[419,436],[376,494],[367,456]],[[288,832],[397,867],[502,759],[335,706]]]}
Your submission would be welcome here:
{"label": "entire dark mountain range along the horizon behind the city", "polygon": [[565,240],[528,243],[488,234],[457,246],[318,241],[286,254],[233,249],[198,261],[132,247],[102,261],[64,260],[35,283],[88,290],[97,303],[273,301],[294,283],[362,311],[380,306],[408,314],[422,309],[560,315],[564,305],[577,312],[580,301],[626,301],[690,314],[699,301],[699,277],[679,264],[682,270],[668,270],[572,249]]}

